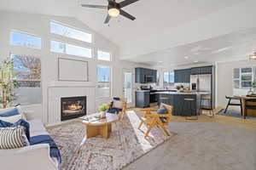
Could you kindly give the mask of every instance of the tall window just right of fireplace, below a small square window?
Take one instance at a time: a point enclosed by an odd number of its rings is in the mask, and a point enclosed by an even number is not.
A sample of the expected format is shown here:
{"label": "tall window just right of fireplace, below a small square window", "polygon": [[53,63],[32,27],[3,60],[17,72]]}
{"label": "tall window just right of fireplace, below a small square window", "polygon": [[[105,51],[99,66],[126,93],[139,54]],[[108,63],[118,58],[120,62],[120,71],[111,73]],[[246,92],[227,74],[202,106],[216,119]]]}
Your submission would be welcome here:
{"label": "tall window just right of fireplace, below a small square window", "polygon": [[110,97],[110,67],[97,65],[96,98]]}

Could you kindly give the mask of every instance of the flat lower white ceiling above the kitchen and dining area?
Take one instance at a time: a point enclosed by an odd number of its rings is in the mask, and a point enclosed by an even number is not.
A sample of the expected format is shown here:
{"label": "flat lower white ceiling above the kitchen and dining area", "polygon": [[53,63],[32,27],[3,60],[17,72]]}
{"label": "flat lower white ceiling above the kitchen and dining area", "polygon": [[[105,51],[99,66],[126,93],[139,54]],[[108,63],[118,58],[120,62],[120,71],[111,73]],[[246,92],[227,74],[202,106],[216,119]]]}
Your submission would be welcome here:
{"label": "flat lower white ceiling above the kitchen and dining area", "polygon": [[256,51],[256,28],[168,48],[128,59],[148,65],[172,68],[196,63],[248,59]]}

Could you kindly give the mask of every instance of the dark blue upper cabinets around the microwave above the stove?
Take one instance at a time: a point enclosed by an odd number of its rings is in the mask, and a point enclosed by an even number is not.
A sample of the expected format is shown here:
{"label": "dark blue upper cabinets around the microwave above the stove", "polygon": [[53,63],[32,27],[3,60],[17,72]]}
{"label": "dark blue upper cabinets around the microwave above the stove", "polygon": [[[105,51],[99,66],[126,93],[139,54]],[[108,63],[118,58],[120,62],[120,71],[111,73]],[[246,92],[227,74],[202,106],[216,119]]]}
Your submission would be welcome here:
{"label": "dark blue upper cabinets around the microwave above the stove", "polygon": [[135,68],[135,82],[137,83],[150,83],[156,82],[157,71],[146,68]]}

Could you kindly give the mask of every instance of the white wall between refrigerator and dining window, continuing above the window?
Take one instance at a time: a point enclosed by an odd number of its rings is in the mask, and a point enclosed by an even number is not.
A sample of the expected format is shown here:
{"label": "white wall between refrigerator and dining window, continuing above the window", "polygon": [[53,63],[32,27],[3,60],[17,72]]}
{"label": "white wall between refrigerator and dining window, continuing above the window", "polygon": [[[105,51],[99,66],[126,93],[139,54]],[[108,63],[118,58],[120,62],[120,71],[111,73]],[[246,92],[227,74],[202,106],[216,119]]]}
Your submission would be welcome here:
{"label": "white wall between refrigerator and dining window, continuing above the window", "polygon": [[225,95],[233,95],[233,69],[256,66],[256,60],[241,60],[217,63],[217,106],[226,106]]}

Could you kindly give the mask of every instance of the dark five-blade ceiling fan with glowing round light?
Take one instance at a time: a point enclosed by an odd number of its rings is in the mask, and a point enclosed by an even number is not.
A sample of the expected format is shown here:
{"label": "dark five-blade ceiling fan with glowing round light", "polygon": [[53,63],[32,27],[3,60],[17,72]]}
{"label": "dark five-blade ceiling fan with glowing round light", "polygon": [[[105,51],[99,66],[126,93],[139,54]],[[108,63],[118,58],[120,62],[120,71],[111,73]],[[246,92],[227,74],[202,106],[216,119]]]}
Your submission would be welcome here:
{"label": "dark five-blade ceiling fan with glowing round light", "polygon": [[136,18],[132,16],[131,14],[126,13],[123,9],[131,3],[135,3],[138,0],[124,0],[120,3],[116,3],[115,0],[108,0],[108,6],[105,5],[89,5],[89,4],[81,4],[82,7],[88,7],[88,8],[103,8],[108,9],[108,15],[106,20],[104,21],[104,24],[108,24],[111,17],[117,17],[119,14],[125,16],[126,18],[130,20],[135,20]]}

